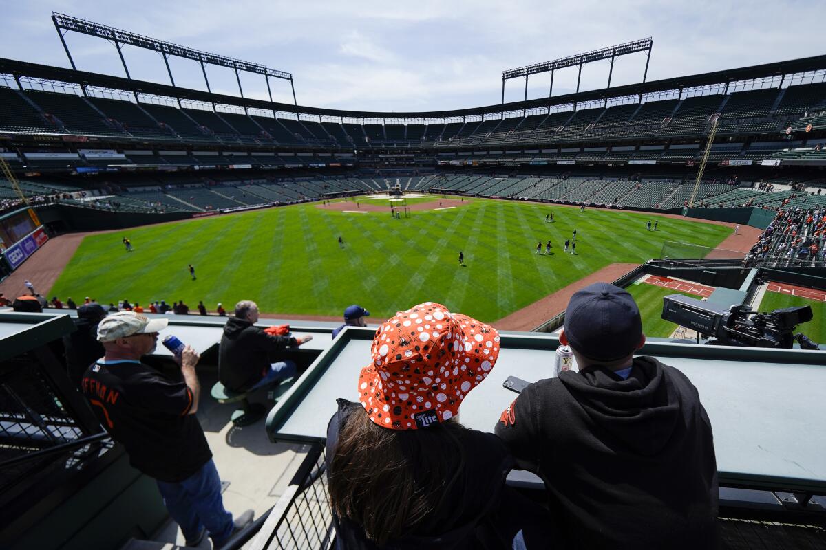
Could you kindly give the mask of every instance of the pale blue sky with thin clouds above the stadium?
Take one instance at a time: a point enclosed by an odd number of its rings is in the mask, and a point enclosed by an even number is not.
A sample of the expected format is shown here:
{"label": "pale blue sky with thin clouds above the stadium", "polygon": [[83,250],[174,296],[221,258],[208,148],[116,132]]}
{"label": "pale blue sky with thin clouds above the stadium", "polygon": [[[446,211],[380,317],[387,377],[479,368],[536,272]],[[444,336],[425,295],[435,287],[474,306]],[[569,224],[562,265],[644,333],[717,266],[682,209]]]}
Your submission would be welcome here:
{"label": "pale blue sky with thin clouds above the stadium", "polygon": [[[159,2],[2,0],[0,57],[68,67],[50,15],[63,12],[294,75],[301,105],[363,110],[441,110],[498,103],[501,72],[653,36],[648,79],[826,53],[816,31],[823,2]],[[818,21],[809,26],[806,21]],[[125,76],[114,46],[69,33],[82,70]],[[807,48],[806,45],[810,47]],[[126,47],[133,78],[169,83],[154,52]],[[206,89],[200,67],[172,61],[178,86]],[[620,58],[612,85],[638,82],[645,54]],[[229,69],[208,69],[214,92],[237,95]],[[605,87],[608,62],[583,69],[582,89]],[[530,80],[547,96],[550,77]],[[576,68],[558,73],[554,94],[572,92]],[[242,77],[266,98],[263,78]],[[273,98],[292,103],[289,85]],[[524,81],[506,88],[521,99]]]}

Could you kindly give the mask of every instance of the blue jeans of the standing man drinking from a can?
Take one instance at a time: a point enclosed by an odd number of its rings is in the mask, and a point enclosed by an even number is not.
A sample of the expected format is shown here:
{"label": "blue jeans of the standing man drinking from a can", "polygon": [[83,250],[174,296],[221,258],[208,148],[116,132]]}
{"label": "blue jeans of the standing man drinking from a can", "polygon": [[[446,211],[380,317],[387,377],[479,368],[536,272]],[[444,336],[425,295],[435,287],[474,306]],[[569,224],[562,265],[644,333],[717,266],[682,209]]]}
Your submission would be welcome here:
{"label": "blue jeans of the standing man drinking from a can", "polygon": [[221,480],[212,459],[183,482],[155,481],[169,515],[181,526],[184,538],[194,540],[204,527],[216,546],[230,538],[232,514],[224,509]]}

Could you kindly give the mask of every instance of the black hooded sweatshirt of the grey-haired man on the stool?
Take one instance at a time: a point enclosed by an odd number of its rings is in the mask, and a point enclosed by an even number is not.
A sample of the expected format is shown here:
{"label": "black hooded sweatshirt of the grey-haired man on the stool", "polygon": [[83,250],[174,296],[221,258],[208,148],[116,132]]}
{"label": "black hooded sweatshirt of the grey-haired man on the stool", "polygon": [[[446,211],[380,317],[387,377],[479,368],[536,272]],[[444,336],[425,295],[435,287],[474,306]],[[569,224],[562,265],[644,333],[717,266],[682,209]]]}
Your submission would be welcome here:
{"label": "black hooded sweatshirt of the grey-haired man on the stool", "polygon": [[292,336],[273,336],[246,319],[230,317],[221,336],[218,378],[225,388],[245,392],[267,374],[269,365],[279,360],[279,353],[295,346]]}

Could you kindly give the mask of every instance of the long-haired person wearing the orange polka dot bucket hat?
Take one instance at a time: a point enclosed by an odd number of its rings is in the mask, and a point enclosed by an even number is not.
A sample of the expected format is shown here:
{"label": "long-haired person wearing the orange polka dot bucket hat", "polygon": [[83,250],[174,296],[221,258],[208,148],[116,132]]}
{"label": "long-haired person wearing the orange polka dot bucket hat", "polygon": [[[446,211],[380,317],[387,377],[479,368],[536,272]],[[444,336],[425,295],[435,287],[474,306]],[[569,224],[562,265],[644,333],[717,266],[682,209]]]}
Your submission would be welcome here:
{"label": "long-haired person wearing the orange polka dot bucket hat", "polygon": [[[432,335],[425,343],[397,327],[425,315],[442,325],[424,333]],[[428,302],[396,313],[376,334],[358,377],[359,402],[338,399],[327,426],[339,548],[511,548],[520,529],[529,548],[553,548],[548,541],[558,537],[534,539],[529,529],[553,525],[547,513],[505,484],[513,467],[506,446],[456,419],[496,364],[496,329]],[[464,369],[439,387],[430,371],[445,357]]]}

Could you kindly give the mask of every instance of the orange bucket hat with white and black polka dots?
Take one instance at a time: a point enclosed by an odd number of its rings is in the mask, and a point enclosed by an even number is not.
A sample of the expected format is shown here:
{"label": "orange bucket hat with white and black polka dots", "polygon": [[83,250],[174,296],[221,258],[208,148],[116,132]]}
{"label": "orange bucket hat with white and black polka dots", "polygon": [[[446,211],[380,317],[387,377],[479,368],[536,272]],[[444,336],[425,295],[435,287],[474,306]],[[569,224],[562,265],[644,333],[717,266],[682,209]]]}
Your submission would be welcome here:
{"label": "orange bucket hat with white and black polka dots", "polygon": [[378,327],[358,401],[375,424],[419,430],[458,414],[499,357],[499,332],[440,303],[398,312]]}

